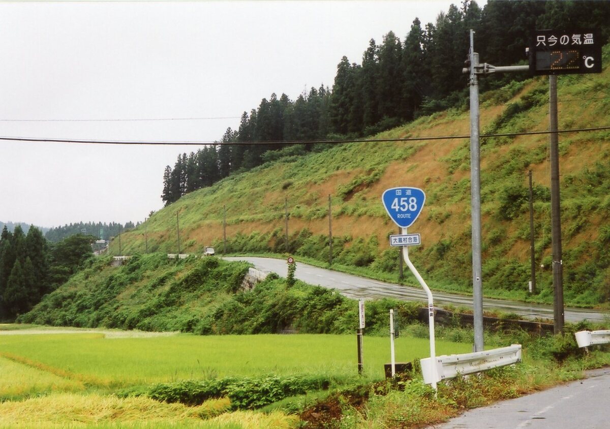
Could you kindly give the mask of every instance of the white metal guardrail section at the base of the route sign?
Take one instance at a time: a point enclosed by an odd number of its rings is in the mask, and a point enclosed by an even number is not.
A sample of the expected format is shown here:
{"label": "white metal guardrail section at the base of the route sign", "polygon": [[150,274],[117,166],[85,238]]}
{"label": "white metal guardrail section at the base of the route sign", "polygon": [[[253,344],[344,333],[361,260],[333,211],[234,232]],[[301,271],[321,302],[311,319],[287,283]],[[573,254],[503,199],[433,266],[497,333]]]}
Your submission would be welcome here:
{"label": "white metal guardrail section at the base of the route sign", "polygon": [[[442,381],[488,369],[521,362],[521,344],[510,347],[494,348],[493,350],[476,351],[463,355],[436,356],[434,362],[431,358],[420,359],[422,364],[423,381],[432,384],[432,381]],[[434,371],[436,367],[436,371]],[[434,373],[436,372],[436,380]]]}

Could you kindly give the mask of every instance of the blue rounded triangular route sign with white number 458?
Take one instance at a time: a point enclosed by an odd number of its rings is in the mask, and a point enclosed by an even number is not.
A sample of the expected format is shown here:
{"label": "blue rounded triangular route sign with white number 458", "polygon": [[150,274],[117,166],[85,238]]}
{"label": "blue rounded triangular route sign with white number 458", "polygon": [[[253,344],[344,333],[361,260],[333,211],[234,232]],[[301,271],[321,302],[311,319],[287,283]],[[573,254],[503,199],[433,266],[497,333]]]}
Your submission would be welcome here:
{"label": "blue rounded triangular route sign with white number 458", "polygon": [[422,212],[426,194],[419,188],[390,188],[384,191],[381,201],[396,225],[409,228]]}

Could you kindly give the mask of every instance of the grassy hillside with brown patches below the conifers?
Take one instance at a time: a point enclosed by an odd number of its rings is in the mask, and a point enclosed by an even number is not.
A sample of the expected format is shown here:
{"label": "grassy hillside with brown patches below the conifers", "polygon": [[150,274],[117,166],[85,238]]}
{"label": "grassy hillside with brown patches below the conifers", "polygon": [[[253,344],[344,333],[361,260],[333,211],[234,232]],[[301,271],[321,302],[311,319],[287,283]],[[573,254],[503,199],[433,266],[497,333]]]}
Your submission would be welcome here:
{"label": "grassy hillside with brown patches below the conifers", "polygon": [[[610,59],[605,49],[604,60]],[[493,79],[490,76],[487,79]],[[559,128],[608,125],[609,72],[558,79]],[[548,79],[509,84],[481,95],[481,134],[548,129]],[[379,134],[377,137],[468,135],[467,106]],[[562,243],[565,301],[598,305],[610,297],[610,131],[562,133]],[[548,135],[481,140],[484,293],[552,299]],[[289,251],[328,262],[328,198],[332,204],[333,261],[398,276],[397,250],[387,237],[397,227],[381,204],[383,190],[420,187],[426,206],[411,232],[422,234],[412,261],[433,287],[463,290],[471,283],[470,154],[467,139],[370,142],[320,146],[317,153],[289,148],[255,170],[233,175],[156,212],[123,234],[123,254],[223,250],[226,208],[228,251]],[[539,294],[528,297],[528,170],[534,181],[534,233]],[[285,248],[284,204],[289,211]],[[111,250],[118,253],[118,243]],[[407,283],[415,283],[407,278]]]}

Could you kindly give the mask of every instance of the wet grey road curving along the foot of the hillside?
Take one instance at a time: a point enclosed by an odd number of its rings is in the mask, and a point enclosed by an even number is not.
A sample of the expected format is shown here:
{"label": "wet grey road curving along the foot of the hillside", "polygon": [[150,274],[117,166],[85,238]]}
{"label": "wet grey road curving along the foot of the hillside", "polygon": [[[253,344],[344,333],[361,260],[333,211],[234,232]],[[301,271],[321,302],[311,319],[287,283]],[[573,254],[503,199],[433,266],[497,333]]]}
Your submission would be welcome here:
{"label": "wet grey road curving along the foot of the hillside", "polygon": [[[224,258],[229,261],[248,261],[254,264],[256,269],[262,272],[274,272],[285,277],[287,273],[287,261],[285,259],[259,258],[250,256],[240,256],[235,258]],[[312,265],[303,264],[297,261],[296,278],[309,283],[319,284],[323,287],[337,289],[341,294],[349,298],[397,298],[406,301],[427,302],[426,294],[423,289],[418,287],[402,286],[399,284],[385,283],[364,277],[337,271],[322,269]],[[484,286],[483,286],[484,287]],[[466,295],[447,294],[445,292],[432,291],[434,305],[465,306],[472,308],[472,297]],[[483,298],[484,310],[499,310],[502,312],[512,312],[519,314],[526,319],[553,319],[553,307],[550,305],[529,304],[519,301],[495,300]],[[590,309],[565,308],[564,318],[567,322],[578,322],[580,320],[601,321],[607,317],[605,312],[598,312]]]}

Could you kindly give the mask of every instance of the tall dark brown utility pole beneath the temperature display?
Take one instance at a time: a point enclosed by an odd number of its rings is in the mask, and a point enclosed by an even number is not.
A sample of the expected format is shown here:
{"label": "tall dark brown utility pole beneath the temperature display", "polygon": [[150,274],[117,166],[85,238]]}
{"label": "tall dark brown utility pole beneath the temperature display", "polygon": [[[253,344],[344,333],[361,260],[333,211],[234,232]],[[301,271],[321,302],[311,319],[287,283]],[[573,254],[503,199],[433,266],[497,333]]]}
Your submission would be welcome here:
{"label": "tall dark brown utility pole beneath the temperature display", "polygon": [[557,76],[548,76],[551,155],[551,242],[553,247],[554,333],[564,330],[564,285],[559,211],[559,137],[557,133]]}

